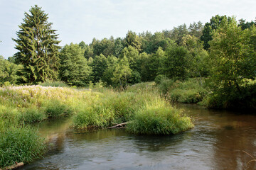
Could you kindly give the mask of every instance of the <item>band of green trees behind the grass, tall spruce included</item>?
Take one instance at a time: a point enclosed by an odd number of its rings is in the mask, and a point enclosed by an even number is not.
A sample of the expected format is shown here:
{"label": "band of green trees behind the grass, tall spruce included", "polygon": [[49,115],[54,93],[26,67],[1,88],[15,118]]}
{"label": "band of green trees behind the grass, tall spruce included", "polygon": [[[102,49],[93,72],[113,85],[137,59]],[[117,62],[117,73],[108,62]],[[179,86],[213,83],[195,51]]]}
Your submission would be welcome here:
{"label": "band of green trees behind the grass, tall spruce included", "polygon": [[213,16],[172,30],[93,39],[60,47],[46,14],[33,6],[16,33],[18,52],[0,58],[0,85],[63,81],[125,89],[145,81],[198,79],[210,107],[256,107],[256,21]]}

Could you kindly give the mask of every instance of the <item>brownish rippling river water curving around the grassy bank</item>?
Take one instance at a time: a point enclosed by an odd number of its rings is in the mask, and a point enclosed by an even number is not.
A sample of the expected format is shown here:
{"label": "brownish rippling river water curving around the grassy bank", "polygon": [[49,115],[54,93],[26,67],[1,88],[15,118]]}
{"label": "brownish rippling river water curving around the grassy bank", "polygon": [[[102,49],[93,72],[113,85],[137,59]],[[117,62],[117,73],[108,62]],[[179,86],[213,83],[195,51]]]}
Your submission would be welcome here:
{"label": "brownish rippling river water curving around the grassy bank", "polygon": [[178,135],[77,133],[70,120],[42,123],[50,151],[23,169],[256,169],[245,153],[256,157],[256,115],[177,107],[195,120],[195,128]]}

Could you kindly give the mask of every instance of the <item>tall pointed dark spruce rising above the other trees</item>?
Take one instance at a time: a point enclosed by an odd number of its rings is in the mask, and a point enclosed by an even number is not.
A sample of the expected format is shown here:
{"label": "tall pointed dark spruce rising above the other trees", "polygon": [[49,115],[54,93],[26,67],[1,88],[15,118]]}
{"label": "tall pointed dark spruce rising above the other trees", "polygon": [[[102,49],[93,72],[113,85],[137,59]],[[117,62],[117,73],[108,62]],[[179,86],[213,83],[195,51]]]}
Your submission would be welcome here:
{"label": "tall pointed dark spruce rising above the other trees", "polygon": [[36,84],[47,79],[58,79],[60,46],[53,23],[48,23],[48,14],[38,6],[25,12],[25,18],[16,35],[14,55],[16,64],[23,64],[22,78],[25,83]]}

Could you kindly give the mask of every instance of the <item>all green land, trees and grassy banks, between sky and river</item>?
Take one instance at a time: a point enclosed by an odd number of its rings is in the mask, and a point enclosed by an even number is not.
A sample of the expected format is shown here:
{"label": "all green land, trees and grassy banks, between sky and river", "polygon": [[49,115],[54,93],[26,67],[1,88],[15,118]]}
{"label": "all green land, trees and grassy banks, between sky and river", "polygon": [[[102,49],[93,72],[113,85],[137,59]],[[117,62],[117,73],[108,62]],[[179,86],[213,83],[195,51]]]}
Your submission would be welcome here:
{"label": "all green land, trees and grassy banks, between sky and river", "polygon": [[13,38],[18,52],[0,56],[0,167],[42,157],[44,139],[29,125],[51,118],[72,115],[77,130],[125,123],[137,135],[170,135],[194,127],[171,103],[255,111],[256,21],[216,15],[60,47],[48,14],[29,12]]}

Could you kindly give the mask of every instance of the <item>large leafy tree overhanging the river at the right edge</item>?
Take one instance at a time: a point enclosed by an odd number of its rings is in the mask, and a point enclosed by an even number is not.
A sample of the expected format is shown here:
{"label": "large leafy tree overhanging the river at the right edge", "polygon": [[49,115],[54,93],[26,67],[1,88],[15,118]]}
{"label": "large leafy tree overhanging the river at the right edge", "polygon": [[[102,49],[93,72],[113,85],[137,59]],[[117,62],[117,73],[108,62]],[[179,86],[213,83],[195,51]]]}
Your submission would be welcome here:
{"label": "large leafy tree overhanging the river at the right edge", "polygon": [[230,103],[239,106],[247,96],[251,99],[255,96],[256,87],[252,90],[249,85],[256,77],[255,36],[255,27],[242,30],[235,18],[213,32],[213,40],[209,42],[210,83],[218,106]]}

